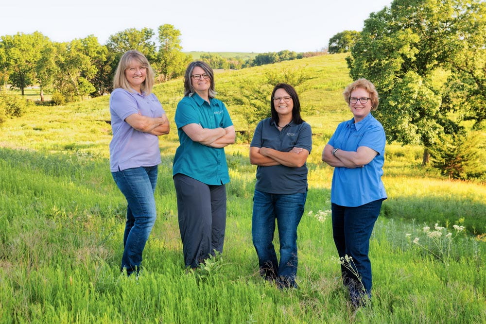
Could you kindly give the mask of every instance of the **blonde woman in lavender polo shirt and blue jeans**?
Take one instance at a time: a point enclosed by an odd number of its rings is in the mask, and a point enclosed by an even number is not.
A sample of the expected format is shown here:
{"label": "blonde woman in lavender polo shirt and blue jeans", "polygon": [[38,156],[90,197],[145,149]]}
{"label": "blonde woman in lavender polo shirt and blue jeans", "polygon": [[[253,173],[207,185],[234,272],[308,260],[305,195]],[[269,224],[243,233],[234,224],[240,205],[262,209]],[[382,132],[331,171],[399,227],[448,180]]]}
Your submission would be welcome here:
{"label": "blonde woman in lavender polo shirt and blue jeans", "polygon": [[169,120],[151,93],[154,73],[139,51],[121,56],[113,79],[110,114],[110,170],[128,203],[121,270],[139,272],[142,252],[156,220],[154,191],[160,164],[158,136]]}

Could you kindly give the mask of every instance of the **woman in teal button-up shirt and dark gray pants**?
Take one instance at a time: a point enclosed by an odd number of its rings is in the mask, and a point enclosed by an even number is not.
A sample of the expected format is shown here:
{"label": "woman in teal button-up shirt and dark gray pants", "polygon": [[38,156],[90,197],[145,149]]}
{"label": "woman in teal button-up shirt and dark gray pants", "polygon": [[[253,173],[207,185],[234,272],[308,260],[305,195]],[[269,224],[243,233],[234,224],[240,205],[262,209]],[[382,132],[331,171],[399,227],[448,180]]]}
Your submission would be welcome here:
{"label": "woman in teal button-up shirt and dark gray pants", "polygon": [[214,250],[223,253],[225,239],[229,174],[224,147],[234,143],[235,128],[215,94],[208,64],[189,64],[184,98],[175,111],[180,145],[173,174],[184,263],[191,269]]}

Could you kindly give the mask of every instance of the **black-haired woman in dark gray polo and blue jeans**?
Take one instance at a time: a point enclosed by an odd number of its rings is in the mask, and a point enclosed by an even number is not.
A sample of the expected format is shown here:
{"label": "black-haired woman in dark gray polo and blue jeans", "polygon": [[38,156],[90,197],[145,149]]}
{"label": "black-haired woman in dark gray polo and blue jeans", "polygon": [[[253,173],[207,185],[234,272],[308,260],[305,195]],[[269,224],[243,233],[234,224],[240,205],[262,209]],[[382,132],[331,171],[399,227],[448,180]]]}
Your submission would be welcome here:
{"label": "black-haired woman in dark gray polo and blue jeans", "polygon": [[[251,234],[260,275],[276,280],[278,288],[297,288],[297,226],[307,198],[312,131],[291,85],[275,86],[270,110],[272,117],[260,121],[250,144],[250,162],[257,165]],[[276,221],[280,262],[272,243]]]}

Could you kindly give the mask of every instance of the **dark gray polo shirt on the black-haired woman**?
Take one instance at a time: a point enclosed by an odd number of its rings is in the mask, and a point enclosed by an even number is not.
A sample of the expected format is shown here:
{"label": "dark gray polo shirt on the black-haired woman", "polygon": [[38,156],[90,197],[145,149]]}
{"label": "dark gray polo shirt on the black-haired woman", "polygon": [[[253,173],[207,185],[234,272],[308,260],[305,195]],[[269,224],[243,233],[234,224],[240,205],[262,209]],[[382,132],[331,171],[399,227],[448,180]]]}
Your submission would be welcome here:
{"label": "dark gray polo shirt on the black-haired woman", "polygon": [[[250,146],[267,147],[280,152],[290,152],[295,146],[312,150],[311,125],[303,122],[297,125],[291,121],[282,131],[271,118],[263,119],[257,125]],[[267,193],[292,194],[307,191],[307,165],[291,168],[284,165],[257,167],[255,189]]]}

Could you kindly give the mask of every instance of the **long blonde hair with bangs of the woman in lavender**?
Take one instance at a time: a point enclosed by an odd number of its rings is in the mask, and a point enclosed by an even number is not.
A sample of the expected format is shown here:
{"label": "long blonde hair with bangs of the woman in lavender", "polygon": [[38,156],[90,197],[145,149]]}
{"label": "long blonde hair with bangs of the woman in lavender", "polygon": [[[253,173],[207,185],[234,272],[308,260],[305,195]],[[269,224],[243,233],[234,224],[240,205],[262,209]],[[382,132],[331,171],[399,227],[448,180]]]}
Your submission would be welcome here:
{"label": "long blonde hair with bangs of the woman in lavender", "polygon": [[125,70],[130,67],[132,62],[138,62],[141,66],[147,67],[145,74],[145,81],[140,85],[140,90],[144,92],[145,96],[152,93],[152,87],[154,86],[154,71],[150,67],[150,63],[139,51],[131,50],[125,52],[118,62],[118,67],[115,70],[115,76],[113,77],[113,89],[122,88],[129,92],[133,92],[130,83],[126,79]]}

